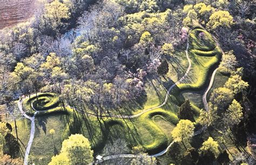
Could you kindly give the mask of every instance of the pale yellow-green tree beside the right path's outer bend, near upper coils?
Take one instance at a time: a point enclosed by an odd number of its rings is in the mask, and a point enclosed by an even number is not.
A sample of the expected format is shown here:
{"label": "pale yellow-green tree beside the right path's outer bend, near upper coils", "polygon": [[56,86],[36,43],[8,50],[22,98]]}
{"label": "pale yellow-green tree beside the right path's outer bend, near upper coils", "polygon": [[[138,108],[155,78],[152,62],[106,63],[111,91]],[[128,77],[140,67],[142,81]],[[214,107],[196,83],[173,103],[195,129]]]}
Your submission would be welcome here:
{"label": "pale yellow-green tree beside the right path's outer bend, near upper coils", "polygon": [[226,70],[226,73],[228,73],[230,70],[234,71],[237,64],[237,58],[234,56],[233,51],[230,51],[223,54],[220,67],[223,67]]}

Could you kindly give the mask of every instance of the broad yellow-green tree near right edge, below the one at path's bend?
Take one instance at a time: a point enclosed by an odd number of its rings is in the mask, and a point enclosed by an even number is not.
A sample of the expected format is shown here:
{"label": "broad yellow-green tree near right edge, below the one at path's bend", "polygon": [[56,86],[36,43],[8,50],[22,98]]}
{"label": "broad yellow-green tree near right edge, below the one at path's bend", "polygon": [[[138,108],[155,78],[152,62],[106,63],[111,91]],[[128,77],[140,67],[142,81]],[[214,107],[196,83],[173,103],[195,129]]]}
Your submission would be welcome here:
{"label": "broad yellow-green tree near right edge, below the one at path's bend", "polygon": [[232,75],[228,78],[224,85],[224,87],[232,90],[234,94],[238,94],[240,92],[245,93],[248,86],[249,84],[242,80],[242,77],[238,74]]}

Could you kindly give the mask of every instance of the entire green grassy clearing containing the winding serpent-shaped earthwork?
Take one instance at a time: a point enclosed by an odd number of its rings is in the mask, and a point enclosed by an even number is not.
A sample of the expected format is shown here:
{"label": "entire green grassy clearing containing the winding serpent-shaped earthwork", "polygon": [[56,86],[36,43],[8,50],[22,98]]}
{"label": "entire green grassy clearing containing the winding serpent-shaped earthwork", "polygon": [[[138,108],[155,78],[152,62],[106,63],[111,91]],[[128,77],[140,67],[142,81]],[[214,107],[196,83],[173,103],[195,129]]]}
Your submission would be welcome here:
{"label": "entire green grassy clearing containing the winding serpent-shaped earthwork", "polygon": [[[203,32],[204,37],[199,38]],[[61,143],[70,134],[80,133],[91,142],[95,155],[102,152],[106,143],[117,138],[125,139],[129,147],[143,146],[150,154],[156,154],[165,149],[172,141],[171,131],[178,123],[177,112],[179,106],[190,99],[194,118],[199,115],[202,106],[202,91],[207,86],[208,78],[214,66],[219,63],[220,51],[210,34],[201,29],[195,29],[190,35],[190,58],[192,68],[184,83],[173,89],[165,106],[154,109],[134,119],[99,118],[72,111],[69,107],[64,110],[60,106],[57,95],[53,93],[38,93],[38,98],[31,95],[24,100],[24,108],[31,115],[30,101],[35,109],[41,110],[36,117],[36,133],[31,148],[30,159],[37,164],[48,163],[54,152],[59,152]],[[174,52],[177,58],[168,60],[169,73],[165,77],[149,77],[145,83],[145,98],[141,102],[131,102],[124,105],[120,112],[125,115],[137,114],[143,109],[158,106],[163,102],[167,89],[181,78],[186,72],[188,62],[185,51]],[[217,73],[216,81],[223,79]],[[225,80],[224,80],[225,81]],[[212,88],[218,86],[215,83]],[[50,109],[47,112],[44,110]],[[117,113],[117,111],[114,111]],[[19,137],[25,144],[30,134],[30,121],[18,121]],[[49,134],[50,129],[55,129],[53,139]],[[53,141],[54,140],[54,141]],[[24,150],[24,147],[23,147]],[[160,157],[166,161],[166,156]]]}

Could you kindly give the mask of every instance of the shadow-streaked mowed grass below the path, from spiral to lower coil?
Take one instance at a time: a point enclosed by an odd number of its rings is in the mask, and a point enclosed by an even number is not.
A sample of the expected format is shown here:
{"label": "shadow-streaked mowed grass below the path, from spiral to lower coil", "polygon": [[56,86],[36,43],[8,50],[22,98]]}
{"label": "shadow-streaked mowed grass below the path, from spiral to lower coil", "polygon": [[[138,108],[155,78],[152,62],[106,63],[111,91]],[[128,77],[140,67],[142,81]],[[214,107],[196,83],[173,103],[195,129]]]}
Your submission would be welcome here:
{"label": "shadow-streaked mowed grass below the path, from spiral to lower coil", "polygon": [[[175,114],[163,109],[155,109],[132,120],[110,118],[97,120],[95,116],[86,116],[70,108],[67,110],[68,115],[55,114],[36,118],[36,133],[30,159],[35,160],[37,164],[48,163],[53,153],[56,150],[60,151],[62,141],[75,133],[83,134],[91,141],[95,154],[103,149],[105,143],[117,138],[125,139],[130,147],[143,146],[148,153],[155,154],[172,141],[170,133],[178,122]],[[157,118],[161,116],[161,119],[157,120],[155,116]],[[163,120],[163,123],[159,120]],[[24,122],[23,125],[18,125],[18,129],[23,129],[20,138],[26,146],[31,123],[27,119],[19,122]],[[53,135],[54,143],[49,134],[50,129],[55,129],[56,132]]]}

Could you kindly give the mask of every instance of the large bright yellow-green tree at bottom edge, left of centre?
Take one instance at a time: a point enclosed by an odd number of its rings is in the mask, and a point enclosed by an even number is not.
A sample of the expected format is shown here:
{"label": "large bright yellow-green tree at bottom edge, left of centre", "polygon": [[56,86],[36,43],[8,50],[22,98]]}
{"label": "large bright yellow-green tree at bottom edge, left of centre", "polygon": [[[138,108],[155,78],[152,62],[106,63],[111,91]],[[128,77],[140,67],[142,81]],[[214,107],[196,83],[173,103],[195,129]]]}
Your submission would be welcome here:
{"label": "large bright yellow-green tree at bottom edge, left of centre", "polygon": [[75,134],[62,142],[60,154],[53,156],[49,164],[89,164],[93,160],[92,154],[89,140],[81,134]]}

